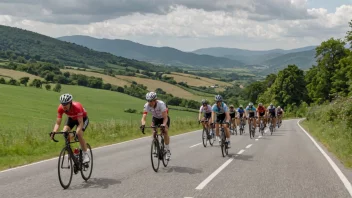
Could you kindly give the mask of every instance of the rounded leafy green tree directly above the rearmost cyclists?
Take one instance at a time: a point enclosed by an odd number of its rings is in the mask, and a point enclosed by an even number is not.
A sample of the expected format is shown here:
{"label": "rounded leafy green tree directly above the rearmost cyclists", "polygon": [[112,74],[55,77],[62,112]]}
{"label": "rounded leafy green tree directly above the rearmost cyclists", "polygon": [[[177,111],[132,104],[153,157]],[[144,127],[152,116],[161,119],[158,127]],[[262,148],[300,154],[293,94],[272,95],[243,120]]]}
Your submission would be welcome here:
{"label": "rounded leafy green tree directly above the rearmost cyclists", "polygon": [[283,107],[291,104],[299,106],[307,100],[304,72],[296,65],[289,65],[281,70],[272,85],[275,100]]}

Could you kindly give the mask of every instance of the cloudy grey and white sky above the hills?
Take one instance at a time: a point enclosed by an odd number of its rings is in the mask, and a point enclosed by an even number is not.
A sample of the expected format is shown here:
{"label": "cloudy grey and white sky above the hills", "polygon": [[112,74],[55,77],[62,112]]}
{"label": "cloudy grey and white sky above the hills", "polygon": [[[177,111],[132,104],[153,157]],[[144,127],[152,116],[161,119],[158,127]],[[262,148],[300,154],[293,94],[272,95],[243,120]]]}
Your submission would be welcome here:
{"label": "cloudy grey and white sky above the hills", "polygon": [[0,0],[1,25],[183,51],[319,45],[351,20],[352,0]]}

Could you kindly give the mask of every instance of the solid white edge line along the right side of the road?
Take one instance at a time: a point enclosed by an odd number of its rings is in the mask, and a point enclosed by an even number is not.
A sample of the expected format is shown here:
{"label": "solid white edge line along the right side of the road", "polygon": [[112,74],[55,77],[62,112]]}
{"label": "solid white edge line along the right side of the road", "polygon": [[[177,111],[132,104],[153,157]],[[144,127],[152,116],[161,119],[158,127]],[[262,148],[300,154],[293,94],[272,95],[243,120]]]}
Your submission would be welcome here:
{"label": "solid white edge line along the right side of the road", "polygon": [[[304,119],[301,119],[304,120]],[[312,142],[314,143],[314,145],[319,149],[319,151],[324,155],[324,157],[326,158],[326,160],[329,162],[329,164],[331,165],[331,167],[334,169],[334,171],[336,172],[336,174],[339,176],[339,178],[341,179],[342,183],[345,185],[347,191],[350,193],[350,196],[352,197],[352,185],[351,183],[348,181],[348,179],[345,177],[345,175],[342,173],[342,171],[339,169],[339,167],[335,164],[334,161],[332,161],[332,159],[329,157],[328,154],[325,153],[325,151],[319,146],[319,144],[312,138],[312,136],[299,124],[299,122],[301,120],[297,121],[298,126],[302,129],[302,131],[304,131],[306,133],[306,135],[310,138],[310,140],[312,140]]]}

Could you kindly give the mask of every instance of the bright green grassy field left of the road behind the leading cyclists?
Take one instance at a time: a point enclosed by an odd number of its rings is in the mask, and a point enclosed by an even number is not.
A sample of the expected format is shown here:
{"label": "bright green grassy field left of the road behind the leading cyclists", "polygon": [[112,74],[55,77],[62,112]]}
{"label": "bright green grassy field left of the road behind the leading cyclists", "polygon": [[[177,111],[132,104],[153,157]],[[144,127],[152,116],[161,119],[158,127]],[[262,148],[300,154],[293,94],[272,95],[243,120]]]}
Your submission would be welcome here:
{"label": "bright green grassy field left of the road behind the leading cyclists", "polygon": [[[0,169],[58,155],[63,142],[50,141],[59,105],[59,96],[70,92],[88,111],[90,124],[85,137],[93,147],[142,137],[141,114],[145,101],[118,92],[79,86],[62,86],[61,93],[0,84]],[[197,113],[170,110],[170,133],[199,128]],[[150,123],[151,116],[148,116]],[[62,124],[63,126],[63,124]]]}

